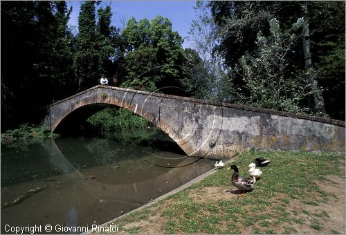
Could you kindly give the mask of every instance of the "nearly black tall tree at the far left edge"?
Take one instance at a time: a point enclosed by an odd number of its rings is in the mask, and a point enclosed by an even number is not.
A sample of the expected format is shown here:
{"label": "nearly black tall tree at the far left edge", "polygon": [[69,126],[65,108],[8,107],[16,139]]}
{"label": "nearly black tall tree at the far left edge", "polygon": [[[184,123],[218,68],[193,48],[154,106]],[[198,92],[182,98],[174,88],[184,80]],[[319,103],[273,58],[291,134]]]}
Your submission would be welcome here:
{"label": "nearly black tall tree at the far left edge", "polygon": [[30,104],[34,17],[33,1],[1,1],[1,131],[19,124],[18,111]]}

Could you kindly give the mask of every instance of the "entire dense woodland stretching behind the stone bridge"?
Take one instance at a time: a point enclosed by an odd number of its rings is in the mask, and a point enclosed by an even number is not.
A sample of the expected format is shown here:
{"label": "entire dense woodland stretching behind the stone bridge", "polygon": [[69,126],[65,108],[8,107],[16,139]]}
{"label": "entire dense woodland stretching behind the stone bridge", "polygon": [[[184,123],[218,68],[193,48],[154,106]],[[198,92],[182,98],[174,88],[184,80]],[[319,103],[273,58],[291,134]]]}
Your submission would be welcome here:
{"label": "entire dense woodland stretching behind the stone bridge", "polygon": [[170,19],[120,29],[109,4],[83,2],[75,35],[65,1],[1,1],[1,132],[39,124],[48,104],[102,74],[111,86],[345,120],[345,1],[197,2],[185,49]]}

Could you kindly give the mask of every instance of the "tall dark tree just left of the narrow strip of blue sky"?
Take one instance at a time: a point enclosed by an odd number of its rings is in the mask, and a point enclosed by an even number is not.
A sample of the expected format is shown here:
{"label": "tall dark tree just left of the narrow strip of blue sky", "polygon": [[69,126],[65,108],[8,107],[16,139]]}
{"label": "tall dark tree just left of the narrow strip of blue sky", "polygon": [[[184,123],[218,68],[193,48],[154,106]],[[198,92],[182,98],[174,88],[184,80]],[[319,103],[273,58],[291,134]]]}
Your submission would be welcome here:
{"label": "tall dark tree just left of the narrow strip of blue sky", "polygon": [[[59,100],[75,92],[71,68],[73,36],[67,26],[71,10],[64,1],[37,2],[37,30],[34,37],[39,48],[35,53],[34,70],[37,83],[46,84],[46,89],[42,91],[46,92],[44,97],[51,97],[45,102]],[[39,97],[38,100],[43,99]]]}

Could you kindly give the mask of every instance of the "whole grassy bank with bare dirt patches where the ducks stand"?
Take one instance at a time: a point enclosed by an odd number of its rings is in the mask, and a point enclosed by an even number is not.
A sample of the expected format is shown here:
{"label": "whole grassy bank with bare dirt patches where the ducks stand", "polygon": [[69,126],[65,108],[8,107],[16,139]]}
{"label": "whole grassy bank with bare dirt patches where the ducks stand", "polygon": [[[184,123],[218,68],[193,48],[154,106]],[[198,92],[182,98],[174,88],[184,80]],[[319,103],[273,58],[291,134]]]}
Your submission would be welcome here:
{"label": "whole grassy bank with bare dirt patches where the ducks stand", "polygon": [[122,234],[340,234],[345,232],[345,156],[248,152],[239,173],[262,156],[255,190],[239,196],[230,164],[149,207],[113,221]]}

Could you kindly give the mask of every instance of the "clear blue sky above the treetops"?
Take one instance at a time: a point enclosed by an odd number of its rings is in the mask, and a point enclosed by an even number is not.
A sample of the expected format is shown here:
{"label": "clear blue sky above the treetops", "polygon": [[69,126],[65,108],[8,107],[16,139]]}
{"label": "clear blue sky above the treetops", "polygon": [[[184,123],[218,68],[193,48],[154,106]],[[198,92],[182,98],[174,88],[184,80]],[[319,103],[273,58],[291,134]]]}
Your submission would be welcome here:
{"label": "clear blue sky above the treetops", "polygon": [[[73,7],[69,24],[78,32],[78,15],[82,1],[67,1]],[[172,30],[177,31],[184,39],[183,48],[192,47],[186,38],[192,19],[195,18],[196,1],[104,1],[101,4],[111,4],[113,13],[111,25],[123,28],[127,20],[135,17],[137,20],[153,19],[158,15],[167,17],[172,22]],[[101,5],[104,7],[104,5]]]}

